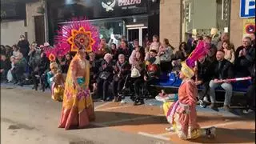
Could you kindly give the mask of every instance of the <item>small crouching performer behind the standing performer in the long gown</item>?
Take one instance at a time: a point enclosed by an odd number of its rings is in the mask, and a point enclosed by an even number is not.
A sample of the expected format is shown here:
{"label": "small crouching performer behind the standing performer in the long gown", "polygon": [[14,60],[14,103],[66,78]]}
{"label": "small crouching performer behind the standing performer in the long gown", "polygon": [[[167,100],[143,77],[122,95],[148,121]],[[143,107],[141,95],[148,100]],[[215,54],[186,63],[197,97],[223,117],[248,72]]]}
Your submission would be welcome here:
{"label": "small crouching performer behind the standing performer in the long gown", "polygon": [[50,85],[51,98],[55,101],[62,102],[65,80],[57,62],[55,62],[56,57],[54,54],[50,54],[48,58],[50,60],[50,71],[47,72],[46,79]]}

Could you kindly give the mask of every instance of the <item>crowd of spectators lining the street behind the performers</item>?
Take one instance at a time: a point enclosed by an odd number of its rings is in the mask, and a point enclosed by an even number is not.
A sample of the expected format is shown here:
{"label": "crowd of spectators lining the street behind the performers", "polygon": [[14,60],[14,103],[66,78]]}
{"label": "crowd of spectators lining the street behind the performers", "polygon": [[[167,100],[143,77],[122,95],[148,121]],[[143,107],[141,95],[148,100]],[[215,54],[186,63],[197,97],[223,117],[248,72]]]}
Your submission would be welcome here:
{"label": "crowd of spectators lining the street behind the performers", "polygon": [[[224,109],[229,110],[232,85],[229,81],[218,80],[254,77],[255,34],[242,38],[242,46],[237,49],[234,49],[226,33],[217,41],[211,42],[211,39],[210,35],[190,37],[187,42],[181,42],[176,50],[166,38],[159,42],[158,35],[153,36],[152,42],[143,42],[143,46],[139,46],[138,39],[130,44],[126,38],[121,38],[120,45],[117,46],[114,43],[108,45],[106,39],[102,38],[98,52],[87,54],[90,62],[90,90],[94,98],[119,102],[122,90],[130,87],[134,105],[143,104],[141,87],[145,88],[143,94],[150,95],[150,86],[158,82],[159,76],[180,70],[181,62],[190,55],[198,42],[204,41],[210,43],[210,50],[206,57],[198,60],[195,68],[195,82],[198,86],[203,86],[198,94],[200,105],[205,107],[203,99],[209,97],[210,107],[216,108],[214,90],[221,86],[226,90]],[[54,70],[50,70],[50,61],[44,53],[48,46],[48,43],[39,47],[36,42],[30,44],[23,35],[17,45],[1,46],[2,82],[13,82],[19,86],[33,84],[35,90],[38,90],[39,84],[41,90],[50,87],[48,79],[54,77]],[[66,54],[65,58],[58,57],[56,60],[64,77],[73,56],[74,54]],[[127,81],[134,84],[128,86]],[[254,86],[252,84],[248,88],[249,99],[254,98]],[[248,100],[248,105],[251,108],[254,103]]]}

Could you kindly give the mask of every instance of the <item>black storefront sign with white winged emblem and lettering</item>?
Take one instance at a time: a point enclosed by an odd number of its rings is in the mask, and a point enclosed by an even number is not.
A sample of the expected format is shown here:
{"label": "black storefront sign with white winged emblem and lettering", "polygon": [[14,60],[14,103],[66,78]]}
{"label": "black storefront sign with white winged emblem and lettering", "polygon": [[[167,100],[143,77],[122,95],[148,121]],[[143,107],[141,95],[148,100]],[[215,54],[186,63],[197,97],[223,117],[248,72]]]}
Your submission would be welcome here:
{"label": "black storefront sign with white winged emblem and lettering", "polygon": [[78,16],[98,19],[147,14],[148,2],[148,0],[87,0],[66,4],[65,1],[49,1],[48,6],[49,10],[57,10],[54,14],[60,22]]}

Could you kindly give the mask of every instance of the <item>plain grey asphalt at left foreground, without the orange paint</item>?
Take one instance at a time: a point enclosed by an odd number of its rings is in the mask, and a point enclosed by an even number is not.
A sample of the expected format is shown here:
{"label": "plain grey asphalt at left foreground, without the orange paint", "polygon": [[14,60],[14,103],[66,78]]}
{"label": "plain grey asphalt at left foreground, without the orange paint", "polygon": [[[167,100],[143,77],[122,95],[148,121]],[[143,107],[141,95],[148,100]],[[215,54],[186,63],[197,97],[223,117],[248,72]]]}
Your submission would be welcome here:
{"label": "plain grey asphalt at left foreground, without the orange paint", "polygon": [[[102,105],[102,102],[95,103],[95,106],[99,105]],[[26,89],[24,90],[22,88],[13,89],[2,87],[1,143],[166,143],[163,140],[149,138],[138,134],[130,134],[101,126],[90,126],[90,128],[82,130],[58,129],[61,106],[61,102],[54,102],[51,100],[50,93],[42,93]],[[104,117],[108,117],[108,115],[104,115]]]}

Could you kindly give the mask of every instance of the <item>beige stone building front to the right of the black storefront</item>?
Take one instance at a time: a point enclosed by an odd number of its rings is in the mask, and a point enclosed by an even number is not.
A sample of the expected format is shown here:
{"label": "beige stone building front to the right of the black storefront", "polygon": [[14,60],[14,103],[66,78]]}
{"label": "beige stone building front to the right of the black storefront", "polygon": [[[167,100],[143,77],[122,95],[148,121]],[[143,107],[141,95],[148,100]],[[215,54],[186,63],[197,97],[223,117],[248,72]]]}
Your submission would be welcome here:
{"label": "beige stone building front to the right of the black storefront", "polygon": [[[241,17],[242,7],[250,10],[250,17]],[[187,34],[210,35],[216,28],[218,35],[230,34],[235,48],[242,45],[242,38],[255,32],[255,0],[161,0],[160,38],[168,38],[178,47],[186,42]],[[247,22],[247,24],[246,24]],[[249,23],[249,24],[248,24]],[[252,25],[246,33],[246,26]]]}

